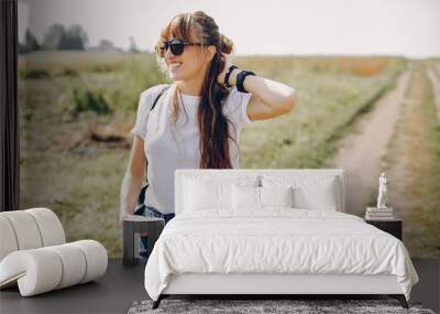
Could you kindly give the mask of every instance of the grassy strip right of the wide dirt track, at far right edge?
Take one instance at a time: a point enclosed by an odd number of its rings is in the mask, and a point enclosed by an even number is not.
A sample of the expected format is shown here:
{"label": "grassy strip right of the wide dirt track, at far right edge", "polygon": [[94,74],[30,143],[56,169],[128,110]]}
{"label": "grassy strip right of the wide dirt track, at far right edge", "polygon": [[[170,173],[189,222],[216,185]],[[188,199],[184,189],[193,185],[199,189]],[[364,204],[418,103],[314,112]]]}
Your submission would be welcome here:
{"label": "grassy strip right of the wide dirt track, at far right edge", "polygon": [[437,86],[429,67],[418,64],[408,88],[410,100],[403,108],[393,145],[385,161],[389,203],[404,219],[404,242],[411,257],[440,256],[440,147]]}

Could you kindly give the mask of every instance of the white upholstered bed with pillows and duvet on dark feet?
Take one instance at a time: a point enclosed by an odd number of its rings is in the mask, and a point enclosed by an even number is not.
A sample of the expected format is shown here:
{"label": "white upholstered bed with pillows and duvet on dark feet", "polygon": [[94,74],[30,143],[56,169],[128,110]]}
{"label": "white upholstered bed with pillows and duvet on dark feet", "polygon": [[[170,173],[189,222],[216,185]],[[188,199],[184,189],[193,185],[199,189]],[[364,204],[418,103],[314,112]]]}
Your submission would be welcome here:
{"label": "white upholstered bed with pillows and duvet on dark feet", "polygon": [[388,294],[407,308],[409,255],[345,213],[345,185],[341,169],[177,170],[176,217],[145,266],[153,308],[173,294]]}

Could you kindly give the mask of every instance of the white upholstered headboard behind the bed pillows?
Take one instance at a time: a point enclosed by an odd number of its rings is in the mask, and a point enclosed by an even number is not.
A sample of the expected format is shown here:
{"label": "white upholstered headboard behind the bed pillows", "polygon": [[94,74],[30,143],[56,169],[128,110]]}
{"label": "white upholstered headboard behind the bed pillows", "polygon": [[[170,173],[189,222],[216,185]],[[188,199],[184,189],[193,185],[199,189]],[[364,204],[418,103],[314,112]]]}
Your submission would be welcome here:
{"label": "white upholstered headboard behind the bed pillows", "polygon": [[186,178],[209,182],[248,182],[261,186],[261,177],[336,178],[337,210],[345,212],[345,177],[343,169],[178,169],[175,171],[175,213],[183,212],[184,185]]}

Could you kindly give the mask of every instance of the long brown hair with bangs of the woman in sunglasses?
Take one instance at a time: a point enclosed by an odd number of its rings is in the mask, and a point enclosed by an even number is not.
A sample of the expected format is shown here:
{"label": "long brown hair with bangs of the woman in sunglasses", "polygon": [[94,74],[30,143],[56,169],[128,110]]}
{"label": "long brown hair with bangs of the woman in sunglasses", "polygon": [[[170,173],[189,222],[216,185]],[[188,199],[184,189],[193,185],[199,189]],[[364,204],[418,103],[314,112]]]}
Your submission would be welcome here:
{"label": "long brown hair with bangs of the woman in sunglasses", "polygon": [[[230,136],[230,126],[235,129],[228,117],[222,111],[222,100],[229,95],[229,89],[217,82],[217,76],[224,68],[224,57],[222,52],[230,54],[233,50],[233,43],[230,39],[219,33],[219,28],[215,20],[202,11],[193,13],[180,13],[162,30],[161,42],[176,37],[179,40],[201,42],[204,46],[215,45],[217,52],[212,57],[210,65],[205,74],[201,87],[200,106],[198,107],[197,120],[200,130],[199,151],[200,169],[230,169],[232,167],[229,154],[229,141],[237,144],[233,137]],[[157,62],[165,72],[164,59],[157,55]],[[173,122],[178,118],[179,107],[177,105],[178,88],[173,95]],[[185,107],[184,107],[185,110]]]}

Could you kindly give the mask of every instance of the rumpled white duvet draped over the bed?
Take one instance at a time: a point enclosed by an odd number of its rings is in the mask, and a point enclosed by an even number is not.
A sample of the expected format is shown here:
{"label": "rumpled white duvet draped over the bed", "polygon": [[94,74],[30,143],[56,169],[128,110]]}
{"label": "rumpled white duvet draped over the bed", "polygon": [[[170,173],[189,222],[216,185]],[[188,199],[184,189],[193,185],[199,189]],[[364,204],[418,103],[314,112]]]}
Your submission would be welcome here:
{"label": "rumpled white duvet draped over the bed", "polygon": [[354,215],[292,208],[176,216],[146,263],[146,292],[157,300],[187,272],[394,274],[407,300],[418,282],[397,238]]}

